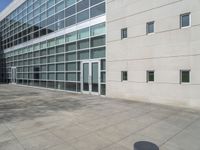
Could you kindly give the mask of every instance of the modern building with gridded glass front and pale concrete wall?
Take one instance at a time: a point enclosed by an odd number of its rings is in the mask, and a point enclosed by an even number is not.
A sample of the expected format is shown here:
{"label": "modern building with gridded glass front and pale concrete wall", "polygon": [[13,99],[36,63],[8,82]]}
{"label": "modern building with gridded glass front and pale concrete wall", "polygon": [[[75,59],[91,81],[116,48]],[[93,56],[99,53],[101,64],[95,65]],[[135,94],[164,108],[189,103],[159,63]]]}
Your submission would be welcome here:
{"label": "modern building with gridded glass front and pale concrete wall", "polygon": [[14,0],[0,14],[2,79],[200,108],[199,8],[199,0]]}

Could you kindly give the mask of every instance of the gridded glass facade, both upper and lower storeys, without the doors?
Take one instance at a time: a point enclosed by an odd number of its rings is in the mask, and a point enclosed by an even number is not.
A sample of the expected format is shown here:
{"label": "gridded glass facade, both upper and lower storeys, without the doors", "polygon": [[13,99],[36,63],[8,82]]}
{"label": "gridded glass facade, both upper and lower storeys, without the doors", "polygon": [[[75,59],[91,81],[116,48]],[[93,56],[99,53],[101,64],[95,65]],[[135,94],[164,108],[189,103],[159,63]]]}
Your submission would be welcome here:
{"label": "gridded glass facade, both upper and lower storeys, without the doors", "polygon": [[81,92],[82,61],[98,60],[99,93],[105,95],[105,22],[36,44],[25,43],[101,15],[105,15],[104,0],[25,1],[0,22],[1,51],[6,51],[1,68],[5,69],[6,81]]}

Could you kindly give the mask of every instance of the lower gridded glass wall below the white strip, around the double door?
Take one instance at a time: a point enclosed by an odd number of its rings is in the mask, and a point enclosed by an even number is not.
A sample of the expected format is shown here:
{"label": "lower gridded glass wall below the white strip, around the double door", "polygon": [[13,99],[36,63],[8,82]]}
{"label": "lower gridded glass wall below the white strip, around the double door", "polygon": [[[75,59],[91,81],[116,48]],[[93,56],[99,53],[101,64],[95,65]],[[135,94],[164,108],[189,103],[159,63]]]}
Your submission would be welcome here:
{"label": "lower gridded glass wall below the white strip, around the double door", "polygon": [[84,28],[6,53],[9,80],[17,68],[17,83],[73,92],[81,91],[81,61],[101,62],[101,94],[105,94],[105,23]]}

